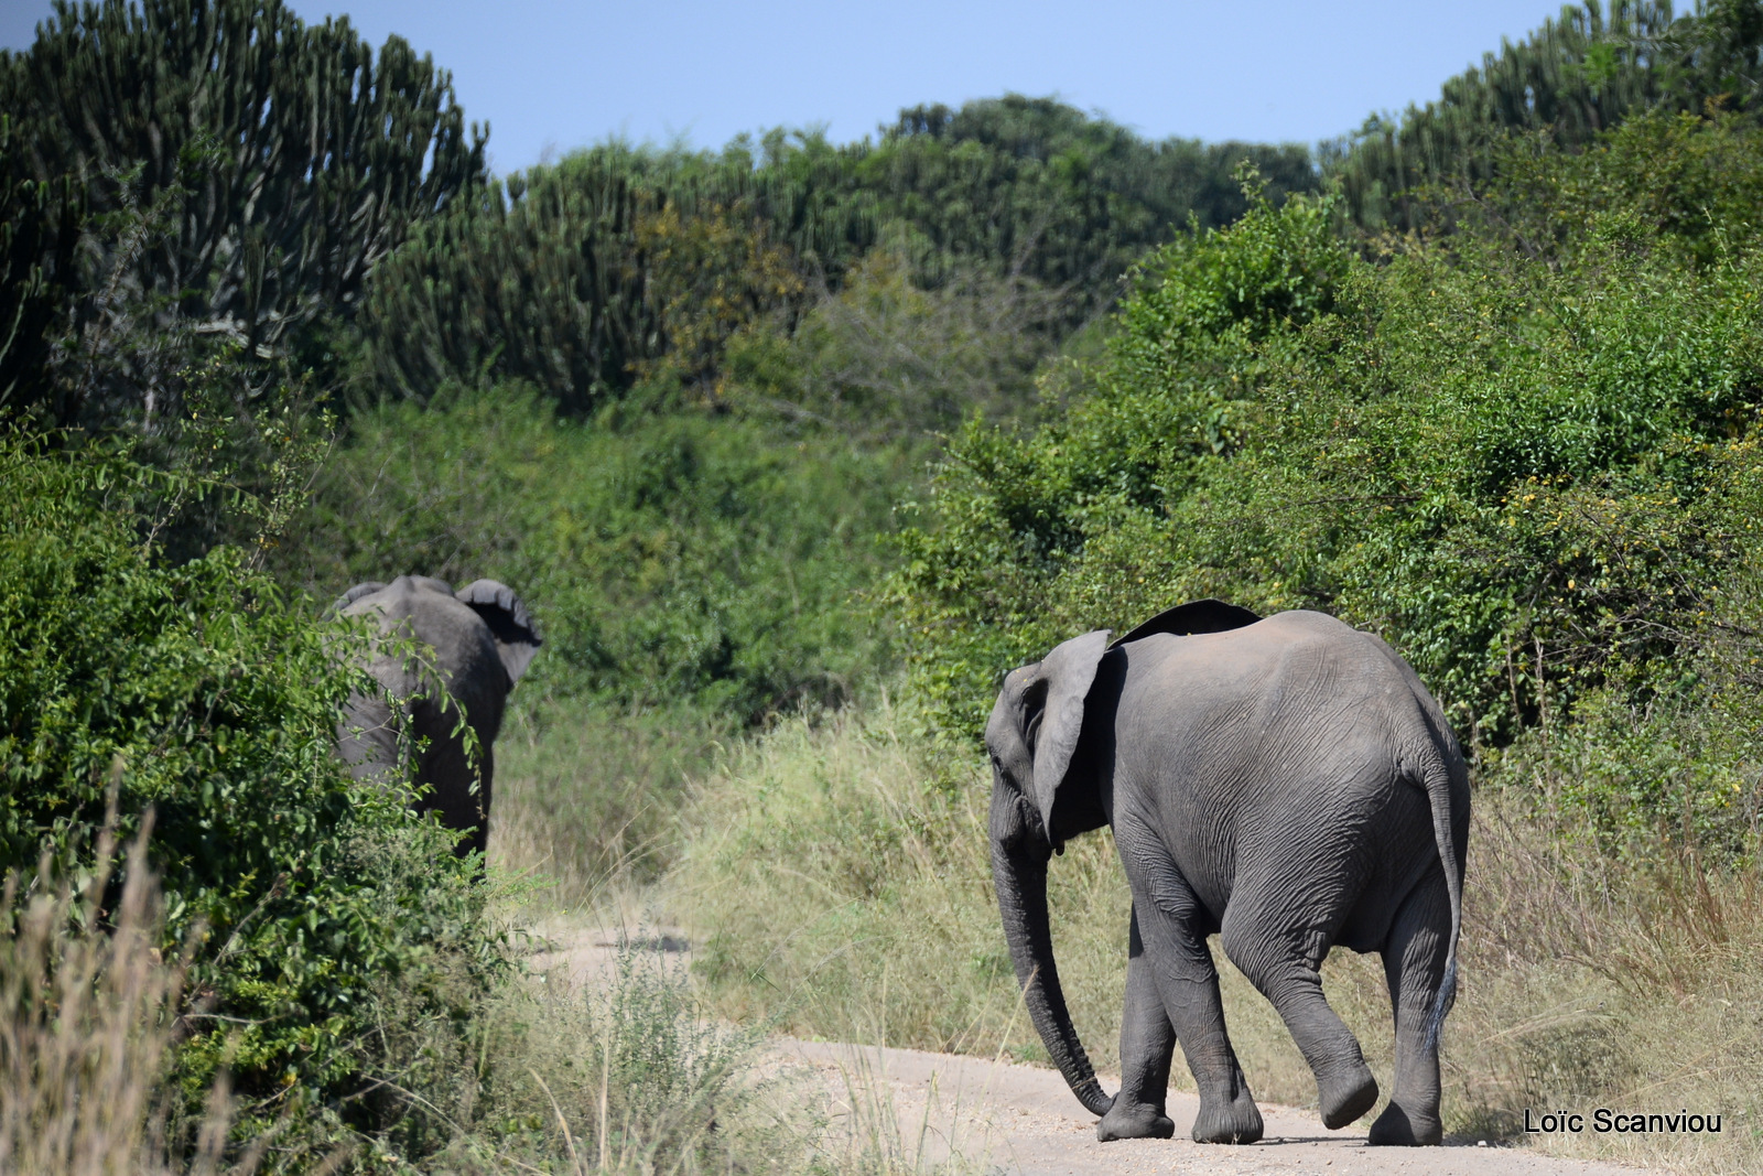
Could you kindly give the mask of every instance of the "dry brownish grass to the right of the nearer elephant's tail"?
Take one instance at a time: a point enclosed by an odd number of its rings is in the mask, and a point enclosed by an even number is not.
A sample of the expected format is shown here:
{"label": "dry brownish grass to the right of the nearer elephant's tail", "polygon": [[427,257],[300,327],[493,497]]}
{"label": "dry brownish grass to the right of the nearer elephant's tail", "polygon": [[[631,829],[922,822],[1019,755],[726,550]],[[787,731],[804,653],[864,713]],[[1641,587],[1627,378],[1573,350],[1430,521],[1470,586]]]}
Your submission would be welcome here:
{"label": "dry brownish grass to the right of the nearer elephant's tail", "polygon": [[[1721,1135],[1539,1146],[1694,1172],[1763,1167],[1763,906],[1752,869],[1613,862],[1571,827],[1483,799],[1447,1088],[1462,1127],[1523,1107],[1715,1113]],[[1462,1114],[1462,1113],[1460,1113]]]}

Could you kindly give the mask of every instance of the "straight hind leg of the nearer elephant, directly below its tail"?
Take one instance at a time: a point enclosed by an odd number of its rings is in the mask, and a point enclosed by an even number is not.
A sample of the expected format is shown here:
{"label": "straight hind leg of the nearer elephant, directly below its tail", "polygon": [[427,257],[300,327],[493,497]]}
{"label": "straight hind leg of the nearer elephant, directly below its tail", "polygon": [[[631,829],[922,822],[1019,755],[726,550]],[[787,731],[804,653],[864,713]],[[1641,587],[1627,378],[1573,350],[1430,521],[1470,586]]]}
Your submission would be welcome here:
{"label": "straight hind leg of the nearer elephant, directly below its tail", "polygon": [[1444,1141],[1439,1116],[1439,1042],[1428,1023],[1451,936],[1451,897],[1437,869],[1402,903],[1384,943],[1384,977],[1396,1014],[1396,1088],[1372,1125],[1370,1144],[1435,1144]]}

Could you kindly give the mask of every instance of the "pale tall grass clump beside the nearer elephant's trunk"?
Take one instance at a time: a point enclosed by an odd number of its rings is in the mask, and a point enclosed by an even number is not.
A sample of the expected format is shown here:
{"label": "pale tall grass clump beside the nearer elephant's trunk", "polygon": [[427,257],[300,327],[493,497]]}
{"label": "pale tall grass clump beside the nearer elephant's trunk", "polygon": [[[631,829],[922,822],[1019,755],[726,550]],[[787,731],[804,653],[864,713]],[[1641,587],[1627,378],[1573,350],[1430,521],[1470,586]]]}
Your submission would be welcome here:
{"label": "pale tall grass clump beside the nearer elephant's trunk", "polygon": [[[696,966],[730,1017],[968,1053],[1015,1021],[1010,1053],[1040,1058],[998,931],[986,793],[910,730],[883,703],[737,744],[688,815],[665,901],[700,931]],[[1060,975],[1104,1058],[1128,912],[1111,855],[1104,837],[1070,845],[1049,894]]]}

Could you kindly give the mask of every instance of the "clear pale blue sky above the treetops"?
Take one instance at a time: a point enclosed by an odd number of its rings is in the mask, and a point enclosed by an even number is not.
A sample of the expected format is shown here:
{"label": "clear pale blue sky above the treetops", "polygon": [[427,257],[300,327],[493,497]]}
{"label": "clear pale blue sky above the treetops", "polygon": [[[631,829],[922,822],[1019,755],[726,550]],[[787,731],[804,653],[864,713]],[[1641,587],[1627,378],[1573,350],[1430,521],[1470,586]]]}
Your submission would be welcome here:
{"label": "clear pale blue sky above the treetops", "polygon": [[[1400,111],[1558,11],[1550,0],[291,0],[453,71],[499,173],[624,136],[874,134],[903,106],[1054,95],[1160,139],[1315,143]],[[49,0],[0,0],[28,48]]]}

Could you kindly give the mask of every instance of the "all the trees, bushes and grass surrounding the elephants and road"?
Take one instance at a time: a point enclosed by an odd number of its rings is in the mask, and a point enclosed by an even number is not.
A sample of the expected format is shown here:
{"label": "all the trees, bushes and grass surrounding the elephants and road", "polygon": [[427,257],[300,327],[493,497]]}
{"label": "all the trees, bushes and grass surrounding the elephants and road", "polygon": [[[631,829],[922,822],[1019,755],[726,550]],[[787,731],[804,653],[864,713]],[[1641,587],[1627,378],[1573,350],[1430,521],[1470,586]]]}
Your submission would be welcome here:
{"label": "all the trees, bushes and grass surrounding the elephants and road", "polygon": [[[1449,1130],[1763,1114],[1759,46],[1569,7],[1317,153],[1003,95],[490,176],[400,39],[58,5],[0,55],[0,1167],[882,1169],[755,1042],[1042,1058],[978,726],[1199,596],[1384,635],[1474,756]],[[488,862],[331,755],[324,610],[398,573],[545,633]],[[1053,878],[1105,1058],[1109,837]],[[689,982],[524,975],[621,904]]]}

